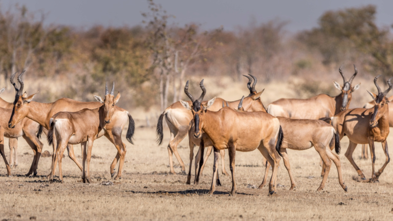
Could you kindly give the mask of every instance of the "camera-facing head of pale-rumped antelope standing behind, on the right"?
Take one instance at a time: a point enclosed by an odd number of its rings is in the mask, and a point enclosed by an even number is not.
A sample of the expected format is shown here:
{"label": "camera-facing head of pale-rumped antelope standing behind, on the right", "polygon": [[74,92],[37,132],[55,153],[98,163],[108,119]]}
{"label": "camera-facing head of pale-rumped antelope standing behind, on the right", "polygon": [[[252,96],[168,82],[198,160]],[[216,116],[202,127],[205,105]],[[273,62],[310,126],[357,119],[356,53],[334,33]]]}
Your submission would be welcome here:
{"label": "camera-facing head of pale-rumped antelope standing behind, on the right", "polygon": [[353,67],[355,69],[355,73],[351,76],[349,81],[347,81],[345,76],[342,74],[341,67],[338,69],[338,71],[340,72],[340,75],[342,77],[342,80],[344,81],[344,84],[342,87],[340,86],[339,83],[334,82],[335,87],[341,91],[341,98],[342,98],[341,111],[344,111],[348,108],[349,103],[351,103],[352,92],[359,89],[359,87],[360,87],[360,83],[358,83],[354,87],[352,87],[352,81],[356,77],[356,75],[358,74],[358,69],[356,69],[355,64],[353,65]]}

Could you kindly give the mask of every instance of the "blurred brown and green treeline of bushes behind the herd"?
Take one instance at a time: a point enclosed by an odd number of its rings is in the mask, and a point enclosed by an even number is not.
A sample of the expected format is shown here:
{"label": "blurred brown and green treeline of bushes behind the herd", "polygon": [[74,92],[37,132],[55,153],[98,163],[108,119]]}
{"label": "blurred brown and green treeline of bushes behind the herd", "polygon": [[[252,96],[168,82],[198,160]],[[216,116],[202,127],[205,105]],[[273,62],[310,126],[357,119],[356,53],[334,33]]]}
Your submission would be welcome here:
{"label": "blurred brown and green treeline of bushes behind the herd", "polygon": [[25,6],[0,7],[1,75],[8,79],[26,69],[29,78],[70,79],[62,81],[69,85],[59,94],[83,100],[115,80],[116,90],[130,95],[130,107],[161,109],[183,97],[183,83],[196,75],[242,81],[251,73],[268,83],[321,76],[355,63],[362,74],[393,76],[390,27],[376,26],[374,5],[327,11],[317,28],[299,33],[287,32],[282,20],[233,31],[179,27],[160,5],[147,0],[146,6],[140,26],[89,29],[44,27],[43,14]]}

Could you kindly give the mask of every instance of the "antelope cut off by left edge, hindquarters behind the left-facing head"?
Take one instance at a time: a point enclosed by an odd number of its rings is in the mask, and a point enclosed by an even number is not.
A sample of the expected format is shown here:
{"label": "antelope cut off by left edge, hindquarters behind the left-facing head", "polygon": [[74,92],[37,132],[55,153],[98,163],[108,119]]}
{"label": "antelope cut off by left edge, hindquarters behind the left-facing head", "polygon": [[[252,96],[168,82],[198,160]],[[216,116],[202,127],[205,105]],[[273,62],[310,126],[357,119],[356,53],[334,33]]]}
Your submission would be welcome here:
{"label": "antelope cut off by left edge, hindquarters behind the left-facing head", "polygon": [[[5,88],[2,88],[0,90],[0,93],[4,91]],[[42,150],[43,144],[41,141],[38,139],[38,137],[35,135],[37,131],[39,131],[39,125],[35,123],[34,121],[31,121],[30,119],[23,120],[22,122],[18,123],[14,128],[8,128],[8,119],[12,114],[12,109],[6,109],[6,108],[1,108],[0,107],[0,154],[3,157],[5,166],[7,168],[7,175],[11,176],[11,167],[9,166],[5,154],[4,154],[4,137],[10,138],[10,140],[13,140],[14,145],[15,145],[15,140],[19,137],[23,137],[28,145],[31,147],[31,149],[34,152],[34,157],[33,157],[33,162],[31,163],[30,169],[26,176],[29,176],[31,173],[34,172],[34,175],[37,174],[37,166],[38,166],[38,160],[40,157],[40,153]],[[12,141],[10,141],[12,142]],[[10,145],[10,153],[11,153],[11,148],[13,146]],[[39,151],[39,152],[38,152]],[[16,152],[16,151],[15,151]],[[16,153],[15,153],[16,155]],[[10,156],[10,160],[12,160],[12,155]],[[15,159],[17,159],[15,157]],[[17,161],[15,160],[15,165],[17,165]]]}

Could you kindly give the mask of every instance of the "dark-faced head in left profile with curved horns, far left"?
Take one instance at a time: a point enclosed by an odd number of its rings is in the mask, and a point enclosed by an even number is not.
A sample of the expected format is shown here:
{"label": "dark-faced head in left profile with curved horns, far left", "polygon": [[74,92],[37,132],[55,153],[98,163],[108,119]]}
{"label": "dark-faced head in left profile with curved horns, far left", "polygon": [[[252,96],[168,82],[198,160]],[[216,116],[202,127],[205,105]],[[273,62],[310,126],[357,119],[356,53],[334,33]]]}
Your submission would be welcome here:
{"label": "dark-faced head in left profile with curved horns, far left", "polygon": [[23,93],[24,83],[22,80],[22,76],[24,73],[25,73],[25,71],[23,71],[18,76],[18,82],[21,85],[19,88],[14,83],[14,77],[15,77],[16,73],[14,73],[9,80],[11,82],[11,84],[14,85],[14,88],[15,88],[14,107],[12,108],[11,117],[8,121],[9,128],[14,128],[17,123],[19,123],[21,120],[23,120],[23,118],[25,118],[28,115],[28,112],[29,112],[29,105],[28,104],[33,100],[35,95],[38,93],[37,92],[37,93],[32,94],[30,96],[26,96],[26,93]]}

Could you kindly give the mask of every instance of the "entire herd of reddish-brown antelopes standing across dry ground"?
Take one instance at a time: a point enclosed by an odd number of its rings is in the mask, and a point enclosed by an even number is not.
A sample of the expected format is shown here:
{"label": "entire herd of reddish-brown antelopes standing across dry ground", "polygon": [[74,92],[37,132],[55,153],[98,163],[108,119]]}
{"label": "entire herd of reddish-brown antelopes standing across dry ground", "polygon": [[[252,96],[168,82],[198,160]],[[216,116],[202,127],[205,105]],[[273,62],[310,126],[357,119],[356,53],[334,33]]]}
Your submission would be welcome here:
{"label": "entire herd of reddish-brown antelopes standing across dry ground", "polygon": [[[229,168],[232,177],[232,189],[230,194],[236,193],[235,181],[235,156],[236,151],[250,152],[258,149],[265,160],[265,173],[259,189],[264,187],[272,166],[272,174],[269,181],[269,194],[277,191],[277,170],[281,157],[288,171],[291,181],[290,190],[296,189],[289,157],[286,149],[306,150],[314,147],[322,162],[323,176],[318,191],[321,191],[326,183],[332,161],[337,167],[338,182],[343,190],[347,191],[342,178],[340,157],[340,139],[344,136],[349,138],[349,146],[345,157],[356,169],[363,182],[377,182],[379,176],[390,161],[388,153],[387,137],[389,127],[393,120],[389,118],[392,97],[387,97],[392,89],[391,79],[387,81],[389,88],[382,91],[377,83],[380,76],[375,77],[374,84],[378,93],[368,92],[373,101],[367,103],[364,108],[348,109],[352,99],[352,93],[359,89],[360,83],[352,86],[352,82],[358,70],[354,65],[355,73],[349,81],[342,73],[343,85],[334,82],[340,94],[331,97],[327,94],[319,94],[309,99],[279,99],[272,102],[265,109],[261,101],[263,90],[257,92],[255,85],[257,79],[249,74],[247,87],[250,94],[236,101],[225,101],[214,97],[203,101],[207,89],[203,80],[199,83],[202,90],[199,97],[194,97],[189,92],[189,82],[185,84],[184,92],[190,101],[180,100],[170,105],[159,117],[157,123],[158,143],[164,138],[163,121],[167,122],[170,139],[168,143],[168,157],[170,173],[175,173],[172,155],[174,154],[181,166],[181,172],[186,173],[185,165],[177,151],[177,146],[187,135],[190,147],[190,166],[186,184],[191,184],[191,170],[194,158],[194,148],[199,146],[195,157],[195,179],[198,184],[210,153],[214,153],[213,175],[209,194],[213,194],[216,185],[221,185],[218,173],[218,161],[221,155],[222,173],[228,175],[225,170],[225,149],[229,153]],[[68,156],[82,171],[84,183],[90,183],[90,159],[93,142],[95,139],[105,136],[117,150],[117,154],[110,166],[112,178],[121,178],[122,167],[126,155],[126,144],[121,135],[128,122],[126,132],[127,140],[133,144],[135,122],[131,114],[115,104],[120,99],[120,92],[114,96],[114,82],[109,92],[108,84],[105,86],[105,97],[94,95],[98,102],[79,102],[69,98],[61,98],[53,103],[39,103],[33,101],[37,93],[27,95],[24,89],[22,72],[17,80],[20,87],[14,82],[15,74],[10,78],[10,83],[15,88],[15,99],[8,103],[0,98],[0,154],[7,169],[7,176],[11,176],[11,168],[18,166],[17,144],[19,137],[23,137],[33,150],[34,156],[30,169],[26,176],[37,175],[38,162],[41,156],[43,143],[40,141],[41,133],[47,135],[49,145],[53,147],[52,166],[48,175],[49,182],[54,181],[56,165],[58,164],[59,181],[62,177],[62,156],[65,149]],[[5,88],[0,90],[0,93]],[[9,138],[10,157],[8,164],[4,154],[4,137]],[[382,149],[386,155],[385,164],[375,171],[375,146],[374,141],[382,143]],[[81,144],[83,164],[81,165],[74,155],[74,144]],[[372,174],[366,179],[362,170],[353,159],[353,152],[357,144],[368,144],[372,162]],[[207,153],[204,157],[204,149]],[[367,157],[367,150],[363,145],[362,157]],[[87,162],[87,164],[86,164]],[[119,162],[117,175],[115,166]]]}

